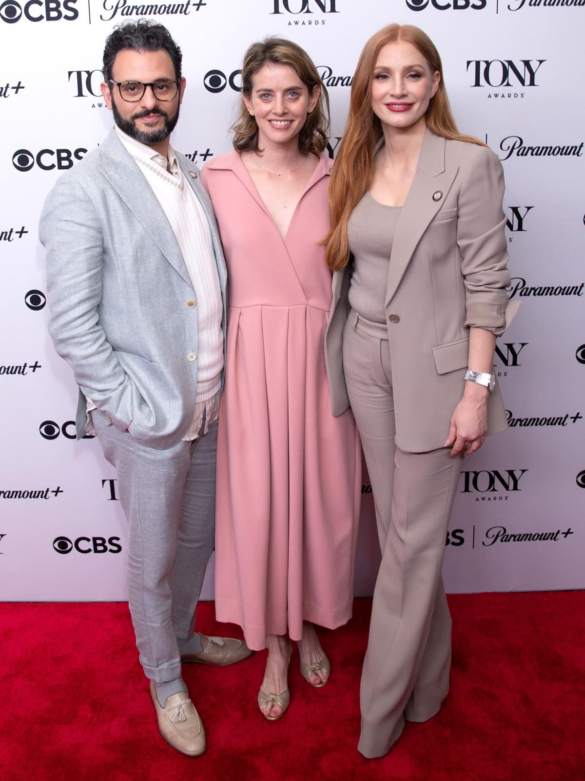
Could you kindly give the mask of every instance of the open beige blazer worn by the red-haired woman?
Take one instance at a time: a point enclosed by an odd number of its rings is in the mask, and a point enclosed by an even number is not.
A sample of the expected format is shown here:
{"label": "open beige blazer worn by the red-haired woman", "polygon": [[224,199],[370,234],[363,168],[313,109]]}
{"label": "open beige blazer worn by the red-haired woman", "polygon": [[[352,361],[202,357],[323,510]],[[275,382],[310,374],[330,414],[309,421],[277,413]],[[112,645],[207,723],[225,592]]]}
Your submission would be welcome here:
{"label": "open beige blazer worn by the red-haired woman", "polygon": [[[392,360],[396,444],[442,448],[463,395],[469,328],[499,335],[519,308],[509,301],[502,212],[502,164],[486,147],[427,130],[402,206],[388,266],[385,313]],[[351,267],[333,275],[325,333],[332,412],[349,406],[342,333]],[[498,384],[488,401],[488,434],[507,427]]]}

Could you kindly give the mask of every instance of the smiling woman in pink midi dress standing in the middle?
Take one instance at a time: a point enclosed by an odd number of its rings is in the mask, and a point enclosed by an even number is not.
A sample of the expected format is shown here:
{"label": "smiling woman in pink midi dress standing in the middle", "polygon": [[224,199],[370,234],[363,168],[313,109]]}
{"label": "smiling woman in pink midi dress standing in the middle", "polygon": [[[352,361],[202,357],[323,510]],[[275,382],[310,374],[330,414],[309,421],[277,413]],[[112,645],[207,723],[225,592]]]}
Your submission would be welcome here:
{"label": "smiling woman in pink midi dress standing in the middle", "polygon": [[250,648],[268,647],[258,704],[275,720],[289,704],[289,638],[323,686],[313,624],[351,617],[361,457],[351,413],[332,415],[324,364],[327,93],[307,53],[279,38],[250,46],[242,84],[236,151],[202,177],[229,271],[215,606]]}

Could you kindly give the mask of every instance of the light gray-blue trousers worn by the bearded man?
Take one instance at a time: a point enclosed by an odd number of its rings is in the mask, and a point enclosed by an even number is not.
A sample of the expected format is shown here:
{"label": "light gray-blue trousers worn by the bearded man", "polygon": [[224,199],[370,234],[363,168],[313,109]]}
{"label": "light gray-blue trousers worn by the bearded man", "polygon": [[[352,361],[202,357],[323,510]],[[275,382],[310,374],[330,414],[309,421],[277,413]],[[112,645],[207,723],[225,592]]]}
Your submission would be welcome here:
{"label": "light gray-blue trousers worn by the bearded man", "polygon": [[218,422],[168,450],[138,444],[94,411],[95,433],[118,471],[128,519],[128,601],[147,678],[181,675],[177,638],[195,626],[195,608],[215,537]]}

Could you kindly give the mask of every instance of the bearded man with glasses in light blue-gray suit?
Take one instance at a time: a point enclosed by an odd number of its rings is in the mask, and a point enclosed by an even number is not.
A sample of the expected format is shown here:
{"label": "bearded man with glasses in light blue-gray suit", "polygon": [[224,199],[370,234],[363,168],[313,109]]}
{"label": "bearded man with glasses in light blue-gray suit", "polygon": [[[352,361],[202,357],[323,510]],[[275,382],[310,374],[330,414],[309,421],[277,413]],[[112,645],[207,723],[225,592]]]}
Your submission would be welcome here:
{"label": "bearded man with glasses in light blue-gray suit", "polygon": [[[80,386],[77,436],[95,433],[118,470],[129,608],[158,728],[197,756],[205,733],[181,662],[228,665],[251,651],[194,633],[214,543],[225,262],[197,167],[169,143],[181,59],[160,24],[108,37],[101,91],[115,128],[58,180],[40,237],[49,330]],[[115,691],[112,704],[128,708]]]}

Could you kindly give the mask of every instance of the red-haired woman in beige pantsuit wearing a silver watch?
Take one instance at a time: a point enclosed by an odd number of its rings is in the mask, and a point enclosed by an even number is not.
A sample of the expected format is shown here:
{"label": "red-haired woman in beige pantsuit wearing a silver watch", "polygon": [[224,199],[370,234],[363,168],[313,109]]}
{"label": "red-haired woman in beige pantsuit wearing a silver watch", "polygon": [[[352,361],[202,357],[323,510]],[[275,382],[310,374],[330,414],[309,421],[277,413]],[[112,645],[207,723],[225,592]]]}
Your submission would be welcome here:
{"label": "red-haired woman in beige pantsuit wearing a silver watch", "polygon": [[358,745],[378,757],[449,690],[445,536],[462,456],[506,427],[491,372],[517,309],[502,166],[459,134],[417,27],[392,24],[363,49],[329,192],[332,409],[353,410],[382,551]]}

